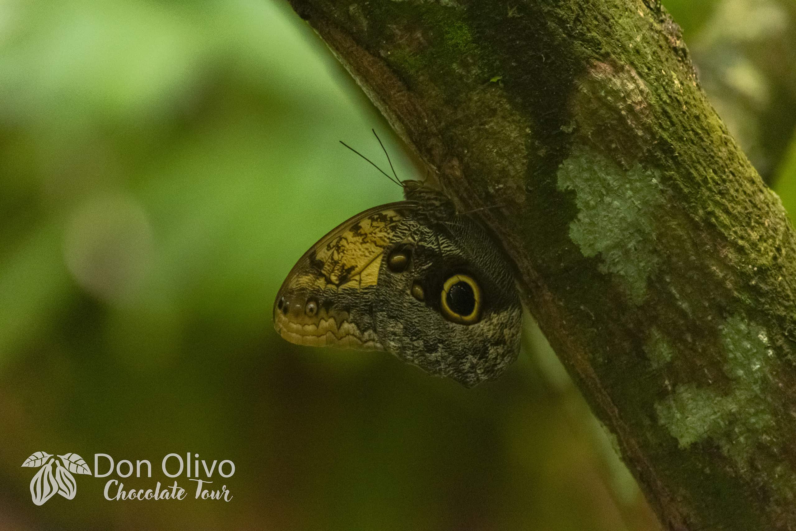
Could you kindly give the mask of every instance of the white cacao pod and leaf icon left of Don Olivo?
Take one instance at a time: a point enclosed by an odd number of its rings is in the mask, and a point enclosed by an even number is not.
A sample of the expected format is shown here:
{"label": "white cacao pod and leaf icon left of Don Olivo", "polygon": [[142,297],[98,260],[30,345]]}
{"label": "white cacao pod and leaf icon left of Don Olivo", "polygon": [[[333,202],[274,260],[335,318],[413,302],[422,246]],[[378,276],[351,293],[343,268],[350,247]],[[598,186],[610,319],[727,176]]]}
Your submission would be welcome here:
{"label": "white cacao pod and leaf icon left of Don Olivo", "polygon": [[[91,474],[85,459],[77,454],[57,455],[59,459],[53,459],[53,454],[46,451],[33,452],[23,467],[38,468],[39,470],[30,480],[30,497],[33,503],[41,506],[53,498],[55,494],[60,494],[64,498],[71,500],[77,493],[77,482],[74,474]],[[53,472],[53,465],[55,471]]]}

